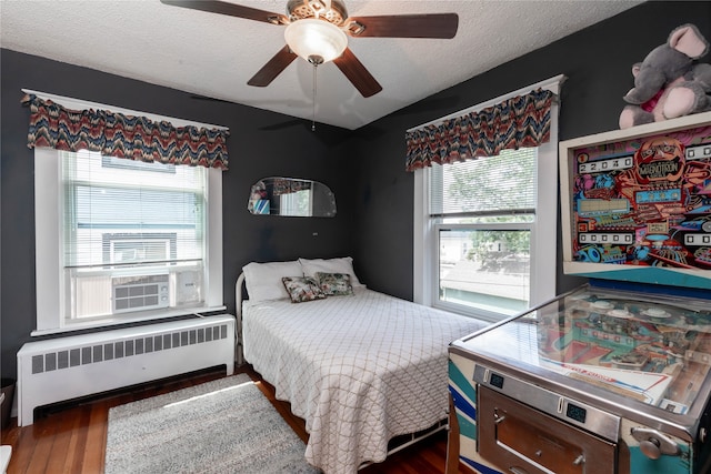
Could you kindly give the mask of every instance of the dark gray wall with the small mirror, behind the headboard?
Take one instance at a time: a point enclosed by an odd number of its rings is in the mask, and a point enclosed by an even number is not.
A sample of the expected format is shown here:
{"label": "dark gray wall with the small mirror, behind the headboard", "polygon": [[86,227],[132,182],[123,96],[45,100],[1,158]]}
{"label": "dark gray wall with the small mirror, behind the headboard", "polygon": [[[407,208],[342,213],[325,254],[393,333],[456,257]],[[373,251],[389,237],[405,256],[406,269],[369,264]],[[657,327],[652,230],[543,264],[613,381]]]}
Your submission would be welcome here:
{"label": "dark gray wall with the small mirror, behind the headboard", "polygon": [[[16,354],[36,327],[33,151],[27,148],[29,109],[20,89],[230,128],[230,169],[223,174],[224,303],[234,311],[234,282],[250,261],[299,256],[342,256],[352,252],[352,183],[348,130],[318,125],[263,110],[207,101],[189,93],[104,74],[9,50],[1,50],[1,258],[0,332],[2,376],[14,377]],[[251,215],[251,185],[269,175],[306,178],[329,185],[337,198],[334,219]],[[317,235],[314,235],[314,233]]]}

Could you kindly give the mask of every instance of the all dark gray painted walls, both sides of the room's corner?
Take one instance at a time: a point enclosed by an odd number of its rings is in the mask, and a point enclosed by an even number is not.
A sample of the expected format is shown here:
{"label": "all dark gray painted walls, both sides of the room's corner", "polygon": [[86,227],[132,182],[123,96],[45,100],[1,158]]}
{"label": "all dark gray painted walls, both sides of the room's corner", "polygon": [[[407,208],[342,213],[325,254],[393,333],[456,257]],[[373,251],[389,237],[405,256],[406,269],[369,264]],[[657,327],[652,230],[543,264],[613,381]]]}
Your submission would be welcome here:
{"label": "all dark gray painted walls, both sides of the room's corner", "polygon": [[[631,64],[685,22],[711,39],[711,3],[644,3],[356,132],[321,125],[312,133],[308,123],[281,114],[191,99],[184,92],[2,50],[2,376],[14,376],[16,353],[34,329],[33,161],[26,147],[29,111],[19,103],[21,88],[231,129],[230,170],[223,182],[229,311],[234,310],[233,282],[242,265],[297,256],[352,255],[359,279],[370,288],[411,299],[413,178],[404,171],[404,131],[561,73],[569,78],[561,93],[561,140],[617,129],[621,98],[632,85]],[[463,51],[462,60],[468,54],[477,50]],[[274,174],[323,181],[336,193],[338,216],[250,215],[246,206],[251,184]],[[550,264],[559,269],[559,291],[581,281],[561,274],[560,255]]]}

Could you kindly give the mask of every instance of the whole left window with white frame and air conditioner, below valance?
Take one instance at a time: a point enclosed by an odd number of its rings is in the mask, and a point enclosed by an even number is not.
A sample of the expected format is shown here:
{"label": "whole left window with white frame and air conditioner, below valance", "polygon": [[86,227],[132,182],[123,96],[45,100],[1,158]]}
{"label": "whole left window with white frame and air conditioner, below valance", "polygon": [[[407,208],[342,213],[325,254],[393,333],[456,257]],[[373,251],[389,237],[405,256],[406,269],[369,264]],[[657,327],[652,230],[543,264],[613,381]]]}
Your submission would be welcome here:
{"label": "whole left window with white frame and air conditioner, below valance", "polygon": [[34,153],[37,333],[222,307],[221,171]]}

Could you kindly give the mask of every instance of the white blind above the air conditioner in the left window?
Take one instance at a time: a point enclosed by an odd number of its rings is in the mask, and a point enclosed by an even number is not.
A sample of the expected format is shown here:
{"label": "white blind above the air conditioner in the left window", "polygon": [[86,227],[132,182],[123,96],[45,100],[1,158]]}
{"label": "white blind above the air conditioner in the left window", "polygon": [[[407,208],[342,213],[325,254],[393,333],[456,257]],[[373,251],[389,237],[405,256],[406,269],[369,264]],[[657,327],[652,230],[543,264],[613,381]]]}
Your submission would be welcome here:
{"label": "white blind above the air conditioner in the left window", "polygon": [[204,254],[207,170],[62,152],[64,268],[168,268]]}

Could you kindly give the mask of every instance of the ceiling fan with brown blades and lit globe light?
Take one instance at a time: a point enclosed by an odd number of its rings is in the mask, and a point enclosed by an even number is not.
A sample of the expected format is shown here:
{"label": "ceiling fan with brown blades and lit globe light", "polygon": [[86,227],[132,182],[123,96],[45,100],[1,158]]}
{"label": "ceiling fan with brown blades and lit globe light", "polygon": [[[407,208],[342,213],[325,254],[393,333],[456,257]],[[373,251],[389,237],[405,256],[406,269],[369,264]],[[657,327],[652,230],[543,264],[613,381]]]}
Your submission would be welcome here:
{"label": "ceiling fan with brown blades and lit globe light", "polygon": [[162,3],[286,26],[287,44],[247,83],[269,85],[301,57],[314,67],[333,61],[365,98],[382,90],[375,78],[348,48],[351,38],[441,38],[457,34],[457,13],[348,17],[340,0],[289,0],[287,14],[218,0],[161,0]]}

